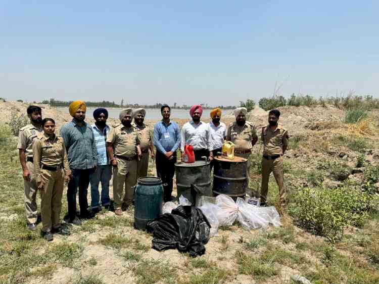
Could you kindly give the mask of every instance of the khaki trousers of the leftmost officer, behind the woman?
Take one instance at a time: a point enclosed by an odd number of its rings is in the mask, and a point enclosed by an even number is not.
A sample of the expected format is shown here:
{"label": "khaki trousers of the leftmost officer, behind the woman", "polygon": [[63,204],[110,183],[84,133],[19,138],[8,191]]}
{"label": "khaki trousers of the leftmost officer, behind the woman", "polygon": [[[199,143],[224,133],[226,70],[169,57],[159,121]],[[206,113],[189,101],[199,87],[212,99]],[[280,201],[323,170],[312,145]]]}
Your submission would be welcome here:
{"label": "khaki trousers of the leftmost officer, behind the woman", "polygon": [[24,207],[25,217],[28,224],[37,222],[37,182],[35,180],[34,165],[32,162],[26,162],[26,167],[30,173],[30,181],[24,179]]}

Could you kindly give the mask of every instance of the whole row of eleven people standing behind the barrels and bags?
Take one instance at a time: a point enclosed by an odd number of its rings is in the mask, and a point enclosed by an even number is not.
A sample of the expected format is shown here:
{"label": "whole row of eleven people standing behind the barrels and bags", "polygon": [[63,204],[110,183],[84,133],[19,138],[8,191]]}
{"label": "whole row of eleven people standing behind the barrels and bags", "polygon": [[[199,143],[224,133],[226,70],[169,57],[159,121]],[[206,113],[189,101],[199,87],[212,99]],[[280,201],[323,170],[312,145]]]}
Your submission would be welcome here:
{"label": "whole row of eleven people standing behind the barrels and bags", "polygon": [[[172,200],[173,177],[177,150],[184,157],[184,146],[191,145],[195,159],[213,157],[221,152],[224,140],[235,145],[235,155],[249,159],[258,140],[256,127],[246,121],[246,108],[234,110],[235,122],[228,128],[220,121],[221,109],[211,111],[212,121],[201,121],[203,109],[195,105],[189,110],[192,120],[180,129],[170,120],[171,108],[161,107],[162,120],[151,127],[145,124],[145,109],[127,108],[120,112],[120,124],[107,124],[108,111],[104,108],[93,112],[95,123],[85,120],[86,105],[75,101],[69,106],[72,121],[65,124],[60,135],[55,133],[55,121],[42,119],[41,108],[29,106],[30,124],[20,130],[17,148],[24,177],[24,204],[27,226],[36,230],[36,193],[41,196],[41,235],[53,240],[53,234],[69,234],[60,222],[64,183],[67,184],[67,222],[80,225],[103,207],[111,205],[109,184],[113,175],[113,198],[116,215],[133,203],[133,186],[138,177],[148,175],[149,157],[154,159],[157,176],[164,184],[164,201]],[[282,155],[288,145],[288,131],[278,125],[278,110],[269,112],[266,127],[262,128],[263,141],[261,199],[267,199],[268,177],[274,173],[279,186],[280,202],[285,204]],[[133,121],[134,120],[134,121]],[[154,153],[154,146],[156,153]],[[250,172],[250,161],[248,162]],[[101,195],[99,184],[101,183]],[[88,207],[87,188],[90,184],[91,205]],[[79,197],[77,212],[76,194]]]}

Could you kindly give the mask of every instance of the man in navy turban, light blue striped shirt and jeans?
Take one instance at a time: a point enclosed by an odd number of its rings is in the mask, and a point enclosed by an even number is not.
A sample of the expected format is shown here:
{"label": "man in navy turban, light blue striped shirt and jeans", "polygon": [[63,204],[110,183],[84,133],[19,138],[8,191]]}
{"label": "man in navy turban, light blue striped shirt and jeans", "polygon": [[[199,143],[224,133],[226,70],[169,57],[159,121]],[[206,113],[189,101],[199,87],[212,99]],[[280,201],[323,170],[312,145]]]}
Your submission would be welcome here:
{"label": "man in navy turban, light blue striped shirt and jeans", "polygon": [[102,209],[99,203],[100,183],[102,184],[102,206],[109,208],[110,205],[109,181],[112,176],[112,165],[107,153],[106,140],[109,131],[113,127],[107,125],[108,111],[106,109],[98,108],[94,110],[93,118],[96,122],[91,125],[91,128],[98,150],[98,167],[90,174],[89,180],[91,183],[91,210],[93,213],[98,213]]}

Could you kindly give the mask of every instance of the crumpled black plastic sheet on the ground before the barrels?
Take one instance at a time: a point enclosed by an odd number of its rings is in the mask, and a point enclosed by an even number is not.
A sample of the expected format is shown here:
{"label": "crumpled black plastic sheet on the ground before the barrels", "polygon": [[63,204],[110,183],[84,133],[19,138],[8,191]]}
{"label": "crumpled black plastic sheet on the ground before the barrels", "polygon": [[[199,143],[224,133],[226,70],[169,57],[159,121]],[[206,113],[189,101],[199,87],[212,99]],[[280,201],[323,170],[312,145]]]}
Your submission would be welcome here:
{"label": "crumpled black plastic sheet on the ground before the barrels", "polygon": [[177,249],[196,257],[205,253],[211,225],[200,209],[193,206],[178,206],[147,225],[153,233],[153,249],[164,251]]}

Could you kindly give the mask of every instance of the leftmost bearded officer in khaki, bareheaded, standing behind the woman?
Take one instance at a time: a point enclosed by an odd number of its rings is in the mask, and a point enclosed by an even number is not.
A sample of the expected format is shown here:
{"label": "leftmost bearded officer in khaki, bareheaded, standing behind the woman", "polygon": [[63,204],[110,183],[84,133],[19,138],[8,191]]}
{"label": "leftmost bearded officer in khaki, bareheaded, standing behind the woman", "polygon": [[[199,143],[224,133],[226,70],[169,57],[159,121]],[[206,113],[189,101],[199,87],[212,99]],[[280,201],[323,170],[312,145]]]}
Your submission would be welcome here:
{"label": "leftmost bearded officer in khaki, bareheaded, standing behind the woman", "polygon": [[28,228],[32,231],[37,229],[37,203],[35,197],[37,193],[37,184],[34,176],[33,166],[33,140],[42,134],[41,128],[41,108],[38,106],[29,106],[27,114],[30,124],[21,128],[18,137],[17,148],[19,150],[19,158],[22,167],[22,176],[24,177],[24,207],[25,217]]}

